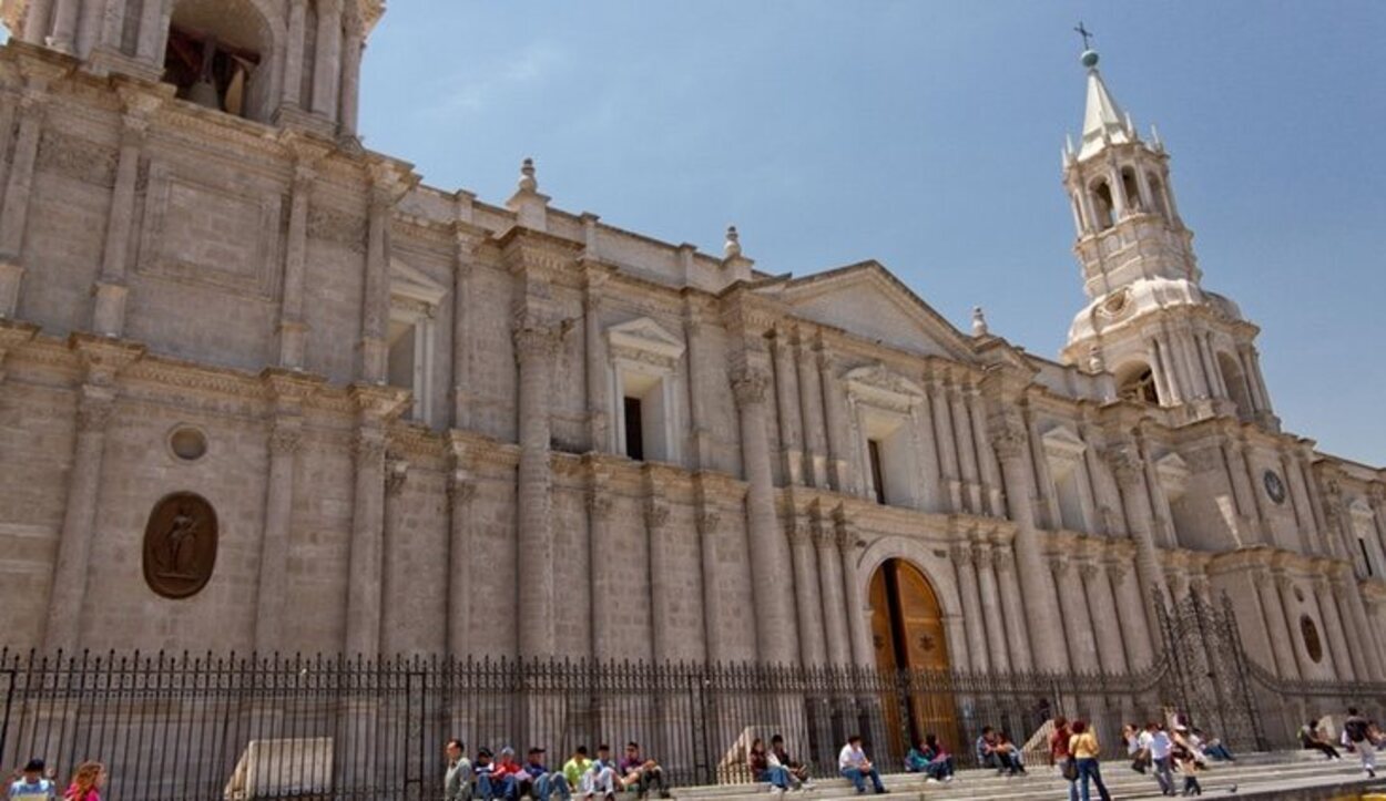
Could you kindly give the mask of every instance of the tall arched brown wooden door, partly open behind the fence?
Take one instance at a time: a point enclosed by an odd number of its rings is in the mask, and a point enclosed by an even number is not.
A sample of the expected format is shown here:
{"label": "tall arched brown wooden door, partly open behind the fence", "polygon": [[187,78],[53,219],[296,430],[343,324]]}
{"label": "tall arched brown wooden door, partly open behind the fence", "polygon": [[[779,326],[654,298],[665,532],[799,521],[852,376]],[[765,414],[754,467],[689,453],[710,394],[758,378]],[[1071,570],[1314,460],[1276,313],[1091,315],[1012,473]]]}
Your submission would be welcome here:
{"label": "tall arched brown wooden door, partly open behind the fence", "polygon": [[[901,558],[887,560],[870,579],[870,628],[876,646],[876,665],[884,671],[937,672],[927,683],[944,685],[948,664],[948,637],[944,632],[942,607],[924,574]],[[897,693],[897,696],[901,696]],[[926,733],[944,739],[959,750],[958,723],[952,693],[913,692],[888,698],[886,729],[890,748],[904,757],[909,743]]]}

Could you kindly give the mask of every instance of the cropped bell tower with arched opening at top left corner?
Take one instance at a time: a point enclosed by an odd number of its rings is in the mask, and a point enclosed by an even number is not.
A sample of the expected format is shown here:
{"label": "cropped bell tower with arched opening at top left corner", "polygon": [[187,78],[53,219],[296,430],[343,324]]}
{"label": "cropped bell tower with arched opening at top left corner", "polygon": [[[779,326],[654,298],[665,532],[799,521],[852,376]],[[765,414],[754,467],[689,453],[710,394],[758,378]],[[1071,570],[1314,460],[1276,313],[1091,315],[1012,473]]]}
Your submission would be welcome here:
{"label": "cropped bell tower with arched opening at top left corner", "polygon": [[323,136],[356,133],[360,60],[384,0],[10,0],[17,39],[98,73]]}

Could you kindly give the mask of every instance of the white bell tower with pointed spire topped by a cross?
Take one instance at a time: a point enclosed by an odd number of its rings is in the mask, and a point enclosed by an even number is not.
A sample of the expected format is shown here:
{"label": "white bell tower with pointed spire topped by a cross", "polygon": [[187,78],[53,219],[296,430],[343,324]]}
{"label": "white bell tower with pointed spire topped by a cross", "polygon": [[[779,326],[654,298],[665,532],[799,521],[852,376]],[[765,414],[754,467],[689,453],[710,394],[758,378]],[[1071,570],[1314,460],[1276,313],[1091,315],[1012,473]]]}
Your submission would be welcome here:
{"label": "white bell tower with pointed spire topped by a cross", "polygon": [[1069,328],[1060,359],[1116,376],[1119,396],[1178,410],[1184,420],[1238,416],[1271,430],[1254,340],[1231,299],[1202,287],[1193,233],[1170,182],[1170,155],[1155,127],[1137,132],[1085,50],[1082,139],[1063,148],[1088,305]]}

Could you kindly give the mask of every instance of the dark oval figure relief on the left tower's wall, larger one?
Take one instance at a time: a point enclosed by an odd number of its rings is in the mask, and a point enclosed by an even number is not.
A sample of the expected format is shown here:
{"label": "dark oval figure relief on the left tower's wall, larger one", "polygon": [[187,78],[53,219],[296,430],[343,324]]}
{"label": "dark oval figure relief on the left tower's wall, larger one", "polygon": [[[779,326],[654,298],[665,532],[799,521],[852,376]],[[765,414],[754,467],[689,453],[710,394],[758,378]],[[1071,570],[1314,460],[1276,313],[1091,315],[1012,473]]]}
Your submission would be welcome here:
{"label": "dark oval figure relief on the left tower's wall, larger one", "polygon": [[144,527],[144,581],[155,593],[184,599],[201,592],[216,567],[216,511],[201,495],[164,496]]}

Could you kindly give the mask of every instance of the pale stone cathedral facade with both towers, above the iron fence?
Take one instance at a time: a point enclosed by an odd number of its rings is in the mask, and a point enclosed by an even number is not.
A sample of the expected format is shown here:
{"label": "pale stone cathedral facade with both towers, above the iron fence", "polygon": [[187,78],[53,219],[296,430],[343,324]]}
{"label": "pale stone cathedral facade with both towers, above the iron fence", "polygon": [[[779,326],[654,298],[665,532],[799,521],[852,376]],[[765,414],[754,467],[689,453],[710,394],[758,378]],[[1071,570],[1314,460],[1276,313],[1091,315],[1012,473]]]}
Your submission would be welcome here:
{"label": "pale stone cathedral facade with both towers, above the iron fence", "polygon": [[[1084,55],[1058,362],[356,137],[380,0],[17,0],[0,644],[1386,679],[1386,474],[1281,430]],[[1056,220],[1062,225],[1062,220]]]}

